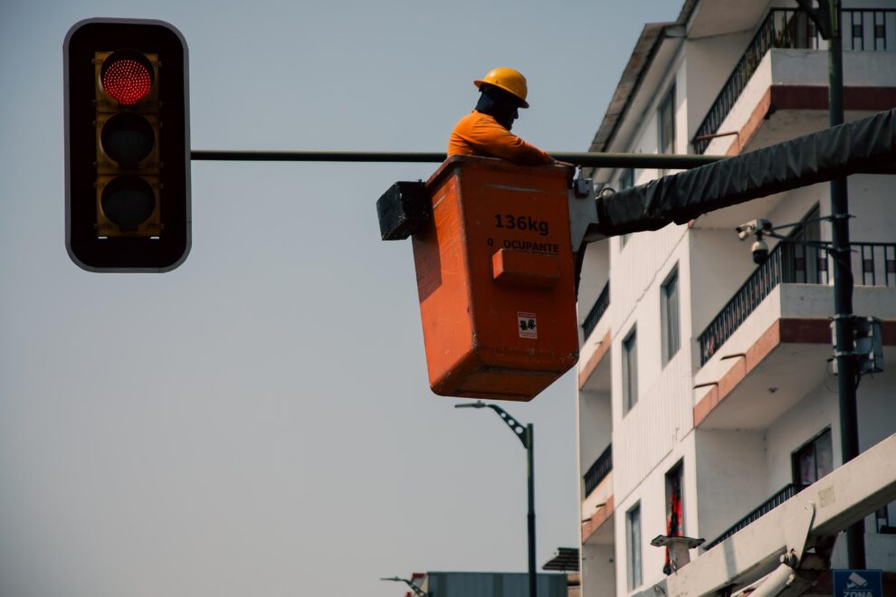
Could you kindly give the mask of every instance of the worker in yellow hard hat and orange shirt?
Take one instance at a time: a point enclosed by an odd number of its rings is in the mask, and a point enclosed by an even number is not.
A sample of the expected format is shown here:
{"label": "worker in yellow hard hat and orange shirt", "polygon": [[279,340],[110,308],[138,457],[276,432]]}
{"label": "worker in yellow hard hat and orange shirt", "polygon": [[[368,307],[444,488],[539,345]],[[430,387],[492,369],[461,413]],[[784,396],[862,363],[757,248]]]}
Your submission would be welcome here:
{"label": "worker in yellow hard hat and orange shirt", "polygon": [[526,101],[526,78],[513,69],[499,67],[481,80],[473,81],[480,90],[479,103],[454,126],[448,141],[449,156],[486,156],[528,166],[559,164],[538,147],[510,132]]}

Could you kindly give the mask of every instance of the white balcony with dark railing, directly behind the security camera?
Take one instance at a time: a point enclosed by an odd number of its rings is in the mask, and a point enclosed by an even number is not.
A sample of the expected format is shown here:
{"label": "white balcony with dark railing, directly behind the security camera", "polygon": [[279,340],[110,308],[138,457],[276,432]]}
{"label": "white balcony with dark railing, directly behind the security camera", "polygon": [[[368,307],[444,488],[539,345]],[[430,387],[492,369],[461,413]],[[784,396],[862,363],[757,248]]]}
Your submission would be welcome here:
{"label": "white balcony with dark railing, directly behind the security camera", "polygon": [[[853,312],[896,333],[896,243],[853,243]],[[699,336],[693,422],[764,430],[830,374],[832,263],[824,251],[779,243]]]}

